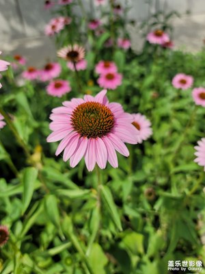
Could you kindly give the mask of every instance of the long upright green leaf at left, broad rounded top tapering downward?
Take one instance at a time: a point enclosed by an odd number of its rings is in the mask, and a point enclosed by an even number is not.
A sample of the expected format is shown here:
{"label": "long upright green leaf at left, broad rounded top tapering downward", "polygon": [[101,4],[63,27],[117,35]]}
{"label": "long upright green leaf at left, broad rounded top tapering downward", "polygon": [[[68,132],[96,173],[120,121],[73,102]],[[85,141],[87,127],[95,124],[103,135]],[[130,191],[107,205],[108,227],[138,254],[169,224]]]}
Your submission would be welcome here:
{"label": "long upright green leaf at left, broad rounded top tapering downward", "polygon": [[22,214],[27,210],[31,202],[34,190],[34,184],[38,176],[38,170],[34,167],[27,167],[23,173],[23,210]]}

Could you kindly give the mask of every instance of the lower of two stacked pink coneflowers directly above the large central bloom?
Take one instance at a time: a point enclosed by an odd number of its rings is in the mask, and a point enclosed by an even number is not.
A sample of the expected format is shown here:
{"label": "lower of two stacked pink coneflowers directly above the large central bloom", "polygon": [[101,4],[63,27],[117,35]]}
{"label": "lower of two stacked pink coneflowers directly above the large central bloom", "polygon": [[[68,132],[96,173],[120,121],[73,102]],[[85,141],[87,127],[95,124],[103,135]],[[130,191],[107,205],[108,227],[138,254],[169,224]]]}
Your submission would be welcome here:
{"label": "lower of two stacked pink coneflowers directly above the large central bloom", "polygon": [[102,73],[97,80],[98,85],[101,88],[108,88],[109,90],[115,90],[122,84],[122,74],[120,73]]}

